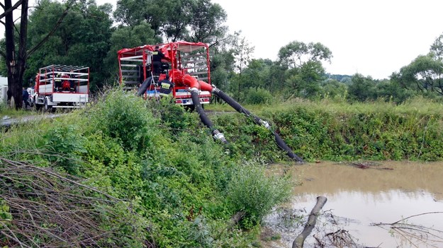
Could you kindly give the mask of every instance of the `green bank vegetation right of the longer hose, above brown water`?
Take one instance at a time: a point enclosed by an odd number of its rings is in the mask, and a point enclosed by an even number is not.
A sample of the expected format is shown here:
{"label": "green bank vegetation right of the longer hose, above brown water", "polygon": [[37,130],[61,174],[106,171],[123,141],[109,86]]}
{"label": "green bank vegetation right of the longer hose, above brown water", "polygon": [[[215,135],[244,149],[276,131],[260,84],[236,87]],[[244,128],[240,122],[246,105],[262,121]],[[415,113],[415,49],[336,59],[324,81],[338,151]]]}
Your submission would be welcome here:
{"label": "green bank vegetation right of the longer hose, above brown water", "polygon": [[438,103],[323,101],[297,105],[268,114],[288,146],[305,160],[443,158],[442,139],[437,138],[443,135]]}

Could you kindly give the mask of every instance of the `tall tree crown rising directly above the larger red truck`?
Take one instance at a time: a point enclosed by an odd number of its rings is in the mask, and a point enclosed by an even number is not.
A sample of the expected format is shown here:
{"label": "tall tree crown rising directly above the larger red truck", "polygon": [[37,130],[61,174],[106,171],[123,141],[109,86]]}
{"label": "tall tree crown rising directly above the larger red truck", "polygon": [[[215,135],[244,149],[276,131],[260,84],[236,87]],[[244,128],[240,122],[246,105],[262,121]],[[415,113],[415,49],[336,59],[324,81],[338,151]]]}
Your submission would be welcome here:
{"label": "tall tree crown rising directly above the larger red truck", "polygon": [[213,45],[227,27],[226,13],[211,0],[118,0],[114,17],[123,25],[149,23],[155,37],[174,42],[187,40]]}

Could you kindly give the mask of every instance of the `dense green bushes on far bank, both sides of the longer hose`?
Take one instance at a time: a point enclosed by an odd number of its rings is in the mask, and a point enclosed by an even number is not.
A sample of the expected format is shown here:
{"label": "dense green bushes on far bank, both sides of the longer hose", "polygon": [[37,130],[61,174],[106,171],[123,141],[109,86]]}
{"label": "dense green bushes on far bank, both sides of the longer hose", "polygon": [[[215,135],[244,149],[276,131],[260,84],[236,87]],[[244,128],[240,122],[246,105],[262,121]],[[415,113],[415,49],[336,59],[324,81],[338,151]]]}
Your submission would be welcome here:
{"label": "dense green bushes on far bank, both sides of the longer hose", "polygon": [[[349,104],[343,101],[293,100],[272,107],[254,107],[273,125],[293,152],[314,160],[442,160],[441,104],[415,99]],[[215,117],[232,151],[267,162],[286,160],[274,137],[242,114]]]}

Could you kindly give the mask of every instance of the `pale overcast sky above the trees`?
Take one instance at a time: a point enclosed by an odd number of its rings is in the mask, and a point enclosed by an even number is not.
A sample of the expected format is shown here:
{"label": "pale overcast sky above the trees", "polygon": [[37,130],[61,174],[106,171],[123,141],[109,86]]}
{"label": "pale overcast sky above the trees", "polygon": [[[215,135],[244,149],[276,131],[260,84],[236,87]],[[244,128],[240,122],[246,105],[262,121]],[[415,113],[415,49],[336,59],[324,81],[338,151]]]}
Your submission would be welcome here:
{"label": "pale overcast sky above the trees", "polygon": [[332,51],[331,64],[323,65],[333,74],[388,78],[443,34],[441,0],[212,1],[228,14],[230,32],[242,30],[255,47],[254,58],[275,60],[294,40],[320,42]]}

